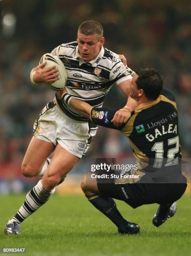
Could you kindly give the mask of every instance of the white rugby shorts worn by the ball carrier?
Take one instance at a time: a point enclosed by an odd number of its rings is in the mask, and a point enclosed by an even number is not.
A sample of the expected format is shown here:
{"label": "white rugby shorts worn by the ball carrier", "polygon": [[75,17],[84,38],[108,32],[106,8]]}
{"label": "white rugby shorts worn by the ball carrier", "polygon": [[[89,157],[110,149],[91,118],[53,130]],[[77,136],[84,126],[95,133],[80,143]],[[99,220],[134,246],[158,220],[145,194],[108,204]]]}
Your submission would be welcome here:
{"label": "white rugby shorts worn by the ball carrier", "polygon": [[74,156],[85,156],[97,125],[82,123],[67,116],[51,101],[41,111],[33,127],[33,136],[55,146],[59,143]]}

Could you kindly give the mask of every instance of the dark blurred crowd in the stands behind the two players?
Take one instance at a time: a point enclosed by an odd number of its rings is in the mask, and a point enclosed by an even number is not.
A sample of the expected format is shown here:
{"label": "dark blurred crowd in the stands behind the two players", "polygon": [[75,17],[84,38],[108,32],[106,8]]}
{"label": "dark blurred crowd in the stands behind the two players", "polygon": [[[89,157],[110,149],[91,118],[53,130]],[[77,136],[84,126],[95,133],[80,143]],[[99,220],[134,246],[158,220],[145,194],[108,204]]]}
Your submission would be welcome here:
{"label": "dark blurred crowd in the stands behind the two players", "polygon": [[[29,74],[41,56],[76,41],[84,20],[102,23],[105,47],[124,54],[128,66],[153,67],[178,104],[183,157],[191,156],[191,4],[178,0],[0,0],[0,193],[28,189],[20,166],[33,123],[54,92],[34,87]],[[114,85],[104,106],[122,107]],[[87,157],[132,157],[118,131],[99,128]],[[75,170],[74,170],[75,171]],[[80,167],[83,171],[83,165]],[[77,172],[77,170],[76,170]],[[36,183],[36,179],[30,182]]]}

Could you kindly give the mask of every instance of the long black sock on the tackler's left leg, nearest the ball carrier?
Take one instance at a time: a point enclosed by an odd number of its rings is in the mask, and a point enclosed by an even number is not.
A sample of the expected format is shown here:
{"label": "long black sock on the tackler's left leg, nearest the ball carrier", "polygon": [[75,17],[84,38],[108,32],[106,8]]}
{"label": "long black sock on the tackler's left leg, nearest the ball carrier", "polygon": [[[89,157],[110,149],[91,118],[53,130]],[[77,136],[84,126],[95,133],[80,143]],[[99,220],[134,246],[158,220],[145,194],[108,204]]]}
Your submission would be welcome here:
{"label": "long black sock on the tackler's left leg, nearest the ball carrier", "polygon": [[111,197],[96,194],[86,197],[97,210],[107,216],[118,228],[123,229],[127,226],[127,220],[117,210],[115,201]]}

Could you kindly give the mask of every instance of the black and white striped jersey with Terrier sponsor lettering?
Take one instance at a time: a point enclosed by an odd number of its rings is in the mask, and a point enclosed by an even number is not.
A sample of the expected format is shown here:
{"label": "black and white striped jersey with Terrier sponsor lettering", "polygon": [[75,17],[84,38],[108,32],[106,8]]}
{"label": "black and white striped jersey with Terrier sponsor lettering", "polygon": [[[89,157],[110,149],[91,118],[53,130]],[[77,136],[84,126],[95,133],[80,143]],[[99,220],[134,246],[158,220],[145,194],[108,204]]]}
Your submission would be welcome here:
{"label": "black and white striped jersey with Terrier sponsor lettering", "polygon": [[[89,62],[84,62],[81,58],[77,42],[61,44],[53,49],[51,54],[58,56],[66,67],[68,93],[93,107],[102,107],[104,98],[114,83],[118,85],[132,78],[133,71],[125,67],[117,54],[103,46],[97,58]],[[88,121],[57,97],[56,100],[69,117],[79,121]]]}

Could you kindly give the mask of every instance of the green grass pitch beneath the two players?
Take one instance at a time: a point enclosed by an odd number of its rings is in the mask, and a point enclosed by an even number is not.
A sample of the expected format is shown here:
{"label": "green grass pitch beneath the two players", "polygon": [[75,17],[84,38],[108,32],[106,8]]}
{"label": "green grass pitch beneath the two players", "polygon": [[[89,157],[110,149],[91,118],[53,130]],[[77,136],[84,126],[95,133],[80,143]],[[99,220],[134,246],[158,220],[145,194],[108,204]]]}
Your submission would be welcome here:
{"label": "green grass pitch beneath the two players", "polygon": [[25,247],[24,255],[35,256],[191,255],[191,195],[178,201],[176,215],[159,228],[152,224],[158,205],[134,210],[116,200],[122,215],[141,226],[140,234],[134,236],[118,235],[115,225],[84,196],[53,195],[23,222],[21,236],[4,235],[5,223],[24,198],[25,195],[0,197],[0,247]]}

